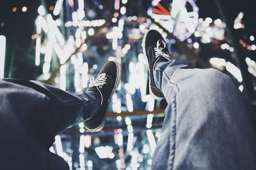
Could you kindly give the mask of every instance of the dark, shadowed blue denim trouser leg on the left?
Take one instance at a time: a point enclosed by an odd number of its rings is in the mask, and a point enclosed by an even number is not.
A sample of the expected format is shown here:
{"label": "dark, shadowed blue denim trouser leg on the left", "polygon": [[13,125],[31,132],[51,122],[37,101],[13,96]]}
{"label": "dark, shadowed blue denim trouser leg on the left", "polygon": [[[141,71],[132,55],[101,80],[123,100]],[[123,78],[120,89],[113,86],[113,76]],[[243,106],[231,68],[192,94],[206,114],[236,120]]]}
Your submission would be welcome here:
{"label": "dark, shadowed blue denim trouser leg on the left", "polygon": [[99,106],[95,92],[71,94],[39,82],[0,80],[0,169],[69,169],[49,146],[58,132],[90,120]]}

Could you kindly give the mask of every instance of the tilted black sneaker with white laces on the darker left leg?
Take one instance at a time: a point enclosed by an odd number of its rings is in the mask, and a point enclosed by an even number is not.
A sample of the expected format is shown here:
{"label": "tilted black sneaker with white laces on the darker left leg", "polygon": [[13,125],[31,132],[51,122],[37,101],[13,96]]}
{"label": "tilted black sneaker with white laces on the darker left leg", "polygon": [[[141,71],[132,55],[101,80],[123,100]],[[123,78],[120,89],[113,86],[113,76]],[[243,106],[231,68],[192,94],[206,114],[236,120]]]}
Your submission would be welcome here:
{"label": "tilted black sneaker with white laces on the darker left leg", "polygon": [[101,101],[99,111],[95,116],[84,122],[90,132],[99,132],[105,124],[109,101],[117,89],[121,78],[121,67],[116,61],[107,62],[100,70],[97,78],[90,80],[88,92],[99,92]]}

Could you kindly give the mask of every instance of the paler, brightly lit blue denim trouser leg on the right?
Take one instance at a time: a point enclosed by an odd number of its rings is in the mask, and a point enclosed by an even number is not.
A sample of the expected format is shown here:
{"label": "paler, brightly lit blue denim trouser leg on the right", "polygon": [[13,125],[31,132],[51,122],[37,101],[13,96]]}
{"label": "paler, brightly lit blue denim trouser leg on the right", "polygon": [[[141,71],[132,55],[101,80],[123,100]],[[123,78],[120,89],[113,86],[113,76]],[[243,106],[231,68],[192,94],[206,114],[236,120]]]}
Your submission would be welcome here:
{"label": "paler, brightly lit blue denim trouser leg on the right", "polygon": [[152,169],[256,169],[256,138],[248,107],[230,77],[157,65],[157,87],[168,103]]}

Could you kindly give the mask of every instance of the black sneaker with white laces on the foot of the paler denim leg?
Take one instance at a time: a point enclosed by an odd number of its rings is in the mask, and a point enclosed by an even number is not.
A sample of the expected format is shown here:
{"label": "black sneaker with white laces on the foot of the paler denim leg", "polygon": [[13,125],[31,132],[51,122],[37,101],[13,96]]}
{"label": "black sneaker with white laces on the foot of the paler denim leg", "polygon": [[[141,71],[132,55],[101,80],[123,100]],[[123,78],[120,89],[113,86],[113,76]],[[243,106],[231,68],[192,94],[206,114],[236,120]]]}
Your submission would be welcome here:
{"label": "black sneaker with white laces on the foot of the paler denim leg", "polygon": [[168,48],[164,38],[156,30],[150,30],[144,35],[142,47],[143,53],[148,60],[150,95],[161,101],[164,99],[164,95],[161,90],[156,87],[153,71],[157,62],[166,62],[170,60]]}

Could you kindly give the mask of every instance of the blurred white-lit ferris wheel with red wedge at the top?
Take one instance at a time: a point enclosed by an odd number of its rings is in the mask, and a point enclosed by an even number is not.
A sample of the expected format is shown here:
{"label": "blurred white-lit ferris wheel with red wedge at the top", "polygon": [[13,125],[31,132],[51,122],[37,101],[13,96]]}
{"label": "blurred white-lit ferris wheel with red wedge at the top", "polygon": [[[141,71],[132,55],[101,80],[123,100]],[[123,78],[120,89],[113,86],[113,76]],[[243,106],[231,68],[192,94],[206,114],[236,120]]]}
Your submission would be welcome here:
{"label": "blurred white-lit ferris wheel with red wedge at the top", "polygon": [[166,10],[159,0],[152,2],[148,14],[174,36],[184,41],[189,38],[198,25],[198,7],[193,0],[173,0],[171,11]]}

